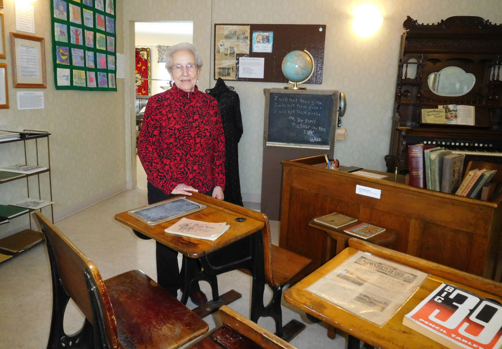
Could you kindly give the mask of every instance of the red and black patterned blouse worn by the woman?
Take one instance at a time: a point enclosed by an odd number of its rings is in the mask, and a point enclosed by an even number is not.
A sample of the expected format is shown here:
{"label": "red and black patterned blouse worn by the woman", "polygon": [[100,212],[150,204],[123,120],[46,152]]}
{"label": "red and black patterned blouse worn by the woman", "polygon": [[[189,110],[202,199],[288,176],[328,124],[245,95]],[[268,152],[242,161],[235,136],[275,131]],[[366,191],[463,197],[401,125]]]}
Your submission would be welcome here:
{"label": "red and black patterned blouse worn by the woman", "polygon": [[138,141],[147,180],[166,194],[179,183],[225,188],[225,139],[216,100],[176,85],[148,100]]}

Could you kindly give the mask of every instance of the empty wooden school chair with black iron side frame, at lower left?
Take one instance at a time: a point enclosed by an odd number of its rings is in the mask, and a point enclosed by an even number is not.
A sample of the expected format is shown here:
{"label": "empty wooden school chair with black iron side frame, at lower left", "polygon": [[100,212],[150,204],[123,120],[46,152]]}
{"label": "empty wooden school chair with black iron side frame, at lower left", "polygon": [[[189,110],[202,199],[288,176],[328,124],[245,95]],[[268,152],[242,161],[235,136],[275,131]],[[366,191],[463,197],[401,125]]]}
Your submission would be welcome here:
{"label": "empty wooden school chair with black iron side frame, at lower left", "polygon": [[[41,212],[51,263],[53,308],[48,348],[174,349],[204,334],[208,324],[148,275],[132,270],[104,280]],[[69,299],[85,315],[81,330],[64,331]]]}

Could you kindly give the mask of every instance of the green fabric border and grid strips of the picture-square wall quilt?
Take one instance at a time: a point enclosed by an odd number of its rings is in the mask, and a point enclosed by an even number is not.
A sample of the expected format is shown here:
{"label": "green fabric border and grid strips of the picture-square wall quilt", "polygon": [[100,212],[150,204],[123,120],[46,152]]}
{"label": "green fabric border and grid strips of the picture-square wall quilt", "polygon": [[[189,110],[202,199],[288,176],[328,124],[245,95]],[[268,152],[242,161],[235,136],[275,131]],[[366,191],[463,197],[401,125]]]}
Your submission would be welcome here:
{"label": "green fabric border and grid strips of the picture-square wall quilt", "polygon": [[[53,67],[54,67],[54,85],[55,85],[55,88],[57,90],[84,90],[84,91],[116,91],[117,90],[117,87],[116,87],[116,84],[117,84],[117,79],[116,79],[116,64],[117,64],[117,61],[116,61],[116,46],[117,46],[117,41],[116,41],[116,16],[115,16],[115,12],[116,12],[116,4],[115,4],[115,0],[103,0],[103,4],[106,4],[106,1],[111,1],[113,2],[113,15],[110,15],[108,13],[106,13],[105,11],[101,11],[101,10],[98,10],[96,9],[94,6],[95,6],[95,0],[92,0],[92,7],[89,7],[89,6],[86,6],[84,5],[83,3],[81,3],[80,1],[77,2],[77,1],[74,1],[74,0],[63,0],[64,2],[66,2],[67,4],[67,9],[66,9],[66,20],[62,20],[62,19],[59,19],[59,18],[55,18],[54,17],[54,0],[51,0],[50,2],[50,6],[51,6],[51,33],[52,33],[52,61],[53,61]],[[70,11],[70,5],[74,5],[74,6],[78,6],[80,8],[80,14],[81,14],[81,24],[76,24],[76,23],[73,23],[73,22],[70,22],[69,20],[69,11]],[[84,25],[84,20],[83,20],[83,9],[86,9],[86,10],[91,10],[93,12],[93,28],[89,28],[89,27],[86,27]],[[113,32],[114,33],[108,33],[106,31],[102,31],[100,29],[97,29],[96,28],[96,20],[95,20],[95,14],[101,14],[101,15],[104,15],[106,17],[109,17],[109,18],[112,18],[113,19]],[[106,20],[105,20],[106,21]],[[60,41],[56,41],[56,33],[55,33],[55,24],[56,23],[60,23],[60,24],[64,24],[64,25],[67,25],[67,38],[68,38],[68,42],[65,43],[65,42],[60,42]],[[72,44],[71,43],[71,33],[70,33],[70,27],[77,27],[77,28],[80,28],[82,30],[82,45],[76,45],[76,44]],[[85,46],[85,39],[84,39],[84,31],[85,30],[92,30],[93,31],[93,39],[94,39],[94,47],[93,48],[89,48],[87,46]],[[114,45],[114,52],[111,52],[111,51],[107,51],[107,50],[101,50],[101,49],[97,49],[95,46],[96,46],[96,34],[97,33],[100,33],[100,34],[104,34],[105,36],[109,36],[109,37],[113,37],[115,39],[115,45]],[[68,51],[69,51],[69,55],[70,55],[70,64],[69,65],[65,65],[65,64],[59,64],[57,63],[57,57],[56,57],[56,47],[57,46],[65,46],[65,47],[68,47]],[[73,61],[72,61],[72,58],[71,58],[71,49],[72,48],[79,48],[79,49],[82,49],[84,50],[84,66],[75,66],[75,65],[72,65]],[[86,57],[85,57],[85,51],[92,51],[93,54],[94,54],[94,63],[95,63],[95,68],[88,68],[85,66],[85,62],[86,62]],[[108,56],[113,56],[114,57],[114,60],[115,60],[115,69],[102,69],[102,68],[97,68],[97,53],[102,53],[102,54],[106,54]],[[57,81],[57,68],[63,68],[63,69],[69,69],[70,70],[70,85],[68,86],[59,86],[58,85],[58,81]],[[75,86],[73,85],[73,71],[74,70],[83,70],[86,72],[86,78],[85,78],[85,83],[86,83],[86,86]],[[96,78],[96,87],[88,87],[87,86],[87,72],[88,71],[92,71],[92,72],[95,72],[95,78]],[[98,76],[98,72],[100,73],[106,73],[106,81],[107,81],[107,85],[109,84],[109,74],[114,74],[114,79],[115,79],[115,87],[98,87],[97,84],[98,84],[98,81],[97,81],[97,76]]]}

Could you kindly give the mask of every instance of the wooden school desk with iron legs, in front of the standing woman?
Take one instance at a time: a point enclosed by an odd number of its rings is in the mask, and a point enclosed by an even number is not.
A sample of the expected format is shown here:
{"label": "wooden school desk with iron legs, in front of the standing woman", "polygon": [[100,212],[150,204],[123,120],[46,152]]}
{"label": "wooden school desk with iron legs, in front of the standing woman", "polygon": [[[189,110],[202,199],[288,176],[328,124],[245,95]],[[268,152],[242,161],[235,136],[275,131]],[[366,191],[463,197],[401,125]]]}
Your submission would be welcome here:
{"label": "wooden school desk with iron legs, in front of the standing woman", "polygon": [[[185,215],[186,218],[206,222],[226,222],[226,224],[230,225],[230,228],[215,241],[210,241],[166,234],[164,229],[177,222],[180,218],[157,225],[148,225],[131,216],[128,211],[124,211],[116,214],[115,219],[183,255],[183,262],[186,267],[185,283],[181,297],[182,303],[186,304],[188,300],[192,281],[205,280],[209,282],[213,299],[208,303],[211,304],[202,305],[198,308],[201,311],[198,314],[204,317],[222,304],[228,304],[241,296],[232,290],[220,298],[216,275],[240,268],[250,270],[252,274],[256,274],[257,263],[260,260],[263,261],[263,247],[260,254],[256,246],[263,245],[257,243],[262,237],[261,234],[255,233],[261,233],[261,229],[265,224],[263,221],[218,206],[215,204],[216,199],[209,196],[194,193],[192,196],[187,196],[187,198],[203,203],[207,207]],[[235,219],[239,217],[245,218],[245,221],[236,221]],[[214,254],[215,251],[222,253]],[[197,263],[197,260],[200,261],[203,271],[192,273],[194,268],[190,268],[190,266]]]}

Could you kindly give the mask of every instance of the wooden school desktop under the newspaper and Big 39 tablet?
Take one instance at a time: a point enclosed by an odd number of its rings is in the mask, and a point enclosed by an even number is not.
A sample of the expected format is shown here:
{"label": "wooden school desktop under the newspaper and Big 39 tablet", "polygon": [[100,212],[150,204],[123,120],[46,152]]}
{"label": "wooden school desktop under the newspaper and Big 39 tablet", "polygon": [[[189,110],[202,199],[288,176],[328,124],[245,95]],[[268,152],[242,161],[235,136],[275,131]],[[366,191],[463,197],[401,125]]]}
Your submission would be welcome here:
{"label": "wooden school desktop under the newspaper and Big 39 tablet", "polygon": [[[382,327],[305,290],[357,251],[369,252],[430,274],[413,296]],[[359,348],[359,340],[362,340],[381,349],[437,349],[445,348],[445,346],[404,326],[402,321],[405,314],[413,310],[443,282],[458,286],[483,298],[492,298],[502,302],[502,284],[498,282],[353,238],[349,240],[348,248],[288,289],[284,293],[284,299],[298,309],[347,333],[348,348]]]}

